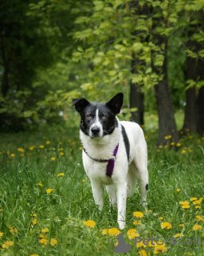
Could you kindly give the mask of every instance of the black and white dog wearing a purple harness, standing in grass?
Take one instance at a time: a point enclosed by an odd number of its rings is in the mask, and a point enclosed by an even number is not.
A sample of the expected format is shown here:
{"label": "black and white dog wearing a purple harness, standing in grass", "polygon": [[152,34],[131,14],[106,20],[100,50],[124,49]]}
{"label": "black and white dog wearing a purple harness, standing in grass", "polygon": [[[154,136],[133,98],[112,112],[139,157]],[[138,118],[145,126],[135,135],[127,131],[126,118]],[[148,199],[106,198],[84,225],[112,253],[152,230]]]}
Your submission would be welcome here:
{"label": "black and white dog wearing a purple harness, standing in grass", "polygon": [[135,122],[120,122],[124,94],[116,94],[108,103],[74,98],[72,106],[80,113],[80,140],[84,146],[83,164],[92,184],[99,210],[103,209],[103,184],[110,202],[118,207],[120,229],[125,226],[126,200],[139,182],[141,202],[147,205],[147,143],[143,130]]}

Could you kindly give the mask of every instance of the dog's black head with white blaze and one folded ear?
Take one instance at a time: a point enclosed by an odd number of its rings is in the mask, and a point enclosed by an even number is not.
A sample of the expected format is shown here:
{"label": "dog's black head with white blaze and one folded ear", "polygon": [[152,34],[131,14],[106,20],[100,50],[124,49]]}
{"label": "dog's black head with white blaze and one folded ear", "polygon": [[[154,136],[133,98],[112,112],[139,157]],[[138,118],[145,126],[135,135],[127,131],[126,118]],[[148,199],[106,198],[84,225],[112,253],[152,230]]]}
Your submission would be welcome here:
{"label": "dog's black head with white blaze and one folded ear", "polygon": [[120,113],[124,94],[116,94],[109,102],[88,102],[73,98],[72,106],[80,113],[80,129],[90,138],[112,134],[117,126],[116,114]]}

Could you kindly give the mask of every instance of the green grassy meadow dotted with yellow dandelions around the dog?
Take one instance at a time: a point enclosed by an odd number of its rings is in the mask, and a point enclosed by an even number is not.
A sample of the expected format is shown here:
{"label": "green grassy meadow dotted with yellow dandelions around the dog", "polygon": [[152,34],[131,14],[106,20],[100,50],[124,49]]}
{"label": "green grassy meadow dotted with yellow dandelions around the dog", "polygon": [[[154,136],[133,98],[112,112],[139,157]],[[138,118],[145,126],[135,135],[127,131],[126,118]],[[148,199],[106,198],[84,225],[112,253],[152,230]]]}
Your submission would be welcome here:
{"label": "green grassy meadow dotted with yellow dandelions around the dog", "polygon": [[[204,136],[188,134],[171,145],[167,134],[172,149],[157,148],[156,116],[145,121],[148,210],[139,205],[137,186],[128,198],[122,234],[131,250],[124,255],[204,255]],[[181,114],[177,121],[181,126]],[[110,255],[120,232],[117,212],[107,194],[101,213],[94,204],[78,127],[1,134],[0,143],[0,255]],[[135,246],[135,236],[160,237],[163,245]]]}

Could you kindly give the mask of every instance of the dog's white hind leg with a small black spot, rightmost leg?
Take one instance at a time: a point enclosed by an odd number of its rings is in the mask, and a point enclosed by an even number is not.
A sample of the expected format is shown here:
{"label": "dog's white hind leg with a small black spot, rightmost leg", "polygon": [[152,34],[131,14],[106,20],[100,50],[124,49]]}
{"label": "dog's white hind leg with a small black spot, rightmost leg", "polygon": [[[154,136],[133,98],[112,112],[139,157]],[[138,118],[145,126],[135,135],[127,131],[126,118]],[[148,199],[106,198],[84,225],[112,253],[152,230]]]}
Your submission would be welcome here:
{"label": "dog's white hind leg with a small black spot, rightmost leg", "polygon": [[141,203],[146,208],[147,189],[148,189],[148,170],[147,170],[147,145],[143,142],[142,145],[135,149],[135,176],[139,183],[141,194]]}

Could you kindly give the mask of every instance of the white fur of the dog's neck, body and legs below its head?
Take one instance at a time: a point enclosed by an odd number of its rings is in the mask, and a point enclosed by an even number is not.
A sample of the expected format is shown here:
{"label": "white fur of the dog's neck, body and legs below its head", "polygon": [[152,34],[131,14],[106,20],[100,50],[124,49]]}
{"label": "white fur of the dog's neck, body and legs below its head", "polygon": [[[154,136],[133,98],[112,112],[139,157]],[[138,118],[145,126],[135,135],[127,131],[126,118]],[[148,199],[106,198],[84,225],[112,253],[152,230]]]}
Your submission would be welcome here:
{"label": "white fur of the dog's neck, body and legs below its head", "polygon": [[[113,151],[119,143],[115,167],[112,178],[106,175],[107,162],[96,162],[88,157],[83,150],[84,170],[92,184],[92,194],[99,210],[103,209],[103,184],[106,186],[110,202],[118,207],[118,223],[120,229],[125,226],[126,200],[135,191],[136,182],[139,183],[141,202],[147,205],[146,185],[147,171],[147,143],[143,130],[135,122],[120,122],[112,134],[102,138],[89,138],[80,130],[80,139],[88,155],[96,159],[113,158]],[[124,126],[130,142],[130,161],[128,163],[124,138],[121,131]]]}

